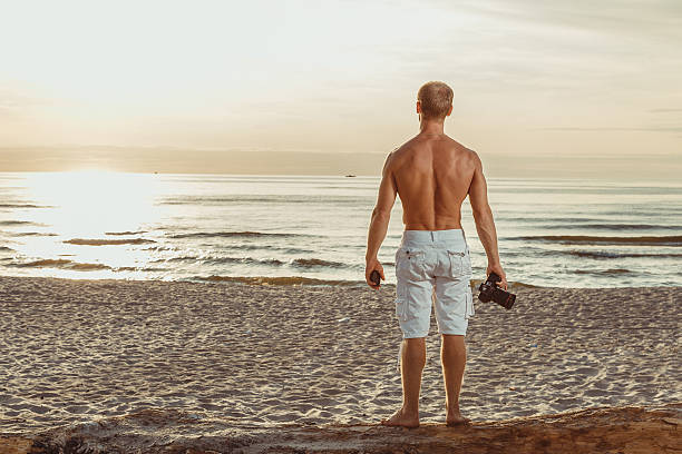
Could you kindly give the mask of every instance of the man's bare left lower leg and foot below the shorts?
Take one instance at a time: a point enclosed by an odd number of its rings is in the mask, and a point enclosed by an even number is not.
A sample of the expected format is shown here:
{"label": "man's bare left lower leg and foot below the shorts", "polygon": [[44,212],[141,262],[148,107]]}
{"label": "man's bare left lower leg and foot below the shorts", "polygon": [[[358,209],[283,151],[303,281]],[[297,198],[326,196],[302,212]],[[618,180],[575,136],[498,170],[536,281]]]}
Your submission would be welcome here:
{"label": "man's bare left lower leg and foot below the shorts", "polygon": [[402,339],[400,372],[402,375],[402,407],[383,425],[419,427],[419,393],[421,391],[421,371],[426,364],[426,338]]}

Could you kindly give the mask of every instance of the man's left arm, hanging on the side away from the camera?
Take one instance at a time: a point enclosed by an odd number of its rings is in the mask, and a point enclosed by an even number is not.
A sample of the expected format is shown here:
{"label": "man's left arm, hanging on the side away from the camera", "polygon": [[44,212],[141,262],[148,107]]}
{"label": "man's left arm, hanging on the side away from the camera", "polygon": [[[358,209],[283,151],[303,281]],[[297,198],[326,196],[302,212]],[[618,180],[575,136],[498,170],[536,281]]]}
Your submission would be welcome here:
{"label": "man's left arm, hanging on the side away from the camera", "polygon": [[383,170],[381,172],[381,184],[379,185],[379,196],[377,197],[377,205],[372,210],[372,219],[370,221],[369,233],[367,236],[367,254],[364,256],[366,270],[364,279],[372,288],[379,288],[374,286],[370,280],[370,274],[376,269],[381,275],[381,279],[386,280],[383,276],[383,267],[377,259],[381,243],[386,238],[388,231],[389,220],[391,219],[391,208],[396,203],[396,194],[398,191],[396,187],[396,180],[391,171],[391,152],[383,164]]}

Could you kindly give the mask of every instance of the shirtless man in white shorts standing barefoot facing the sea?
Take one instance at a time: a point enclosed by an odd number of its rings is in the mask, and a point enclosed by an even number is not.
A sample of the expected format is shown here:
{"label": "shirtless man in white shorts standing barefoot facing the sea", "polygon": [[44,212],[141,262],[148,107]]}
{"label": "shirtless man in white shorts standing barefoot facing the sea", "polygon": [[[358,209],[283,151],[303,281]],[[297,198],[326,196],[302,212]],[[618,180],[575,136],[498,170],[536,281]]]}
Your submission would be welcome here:
{"label": "shirtless man in white shorts standing barefoot facing the sea", "polygon": [[452,112],[452,90],[442,82],[419,89],[419,134],[391,152],[383,166],[377,206],[367,245],[366,279],[373,270],[384,279],[377,259],[386,238],[396,194],[402,201],[405,233],[396,253],[396,315],[402,329],[402,407],[381,423],[419,426],[421,371],[426,363],[426,336],[431,305],[441,334],[440,358],[446,391],[446,423],[466,424],[459,412],[459,391],[467,353],[465,334],[474,315],[469,279],[471,260],[461,230],[461,203],[471,203],[478,237],[488,257],[486,275],[495,272],[507,288],[499,263],[497,233],[488,205],[486,179],[476,152],[445,135],[445,118]]}

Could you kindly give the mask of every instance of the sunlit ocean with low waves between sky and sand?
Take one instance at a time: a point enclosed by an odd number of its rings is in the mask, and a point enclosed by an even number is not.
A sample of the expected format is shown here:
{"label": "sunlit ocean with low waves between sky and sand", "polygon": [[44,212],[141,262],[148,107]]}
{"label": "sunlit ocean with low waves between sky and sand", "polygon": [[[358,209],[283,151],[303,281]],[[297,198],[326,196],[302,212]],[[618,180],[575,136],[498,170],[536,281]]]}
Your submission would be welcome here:
{"label": "sunlit ocean with low waves between sky and sand", "polygon": [[[0,274],[361,285],[378,177],[0,174]],[[680,286],[682,184],[488,179],[509,282]],[[379,259],[394,283],[398,199]],[[486,257],[468,200],[474,278]]]}

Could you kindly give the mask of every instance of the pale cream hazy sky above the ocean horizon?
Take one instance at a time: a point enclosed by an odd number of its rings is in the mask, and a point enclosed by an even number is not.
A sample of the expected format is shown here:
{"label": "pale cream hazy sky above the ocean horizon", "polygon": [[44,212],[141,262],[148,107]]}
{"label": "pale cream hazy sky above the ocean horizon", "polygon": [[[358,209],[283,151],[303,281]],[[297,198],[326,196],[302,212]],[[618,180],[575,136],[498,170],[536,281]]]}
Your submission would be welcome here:
{"label": "pale cream hazy sky above the ocean horizon", "polygon": [[494,176],[682,171],[679,0],[0,0],[0,171],[372,175],[428,80]]}

